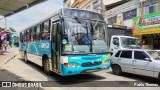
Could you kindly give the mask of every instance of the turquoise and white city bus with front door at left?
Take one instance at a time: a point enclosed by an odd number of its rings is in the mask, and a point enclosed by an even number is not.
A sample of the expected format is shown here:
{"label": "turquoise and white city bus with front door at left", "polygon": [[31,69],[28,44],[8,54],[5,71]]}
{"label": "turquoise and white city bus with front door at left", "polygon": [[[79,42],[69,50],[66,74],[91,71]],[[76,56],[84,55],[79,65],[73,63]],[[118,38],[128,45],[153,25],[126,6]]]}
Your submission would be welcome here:
{"label": "turquoise and white city bus with front door at left", "polygon": [[20,54],[47,74],[61,76],[110,68],[107,30],[99,13],[62,8],[20,32]]}

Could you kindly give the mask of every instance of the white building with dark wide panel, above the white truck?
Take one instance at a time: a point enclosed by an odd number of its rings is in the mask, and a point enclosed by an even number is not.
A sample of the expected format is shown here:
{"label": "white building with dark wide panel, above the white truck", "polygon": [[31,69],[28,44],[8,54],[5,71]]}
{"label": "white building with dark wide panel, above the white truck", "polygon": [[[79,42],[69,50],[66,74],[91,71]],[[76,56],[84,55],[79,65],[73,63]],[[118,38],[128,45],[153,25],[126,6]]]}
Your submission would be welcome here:
{"label": "white building with dark wide panel, above the white truck", "polygon": [[127,26],[132,29],[132,18],[139,15],[139,0],[119,0],[105,6],[108,24]]}

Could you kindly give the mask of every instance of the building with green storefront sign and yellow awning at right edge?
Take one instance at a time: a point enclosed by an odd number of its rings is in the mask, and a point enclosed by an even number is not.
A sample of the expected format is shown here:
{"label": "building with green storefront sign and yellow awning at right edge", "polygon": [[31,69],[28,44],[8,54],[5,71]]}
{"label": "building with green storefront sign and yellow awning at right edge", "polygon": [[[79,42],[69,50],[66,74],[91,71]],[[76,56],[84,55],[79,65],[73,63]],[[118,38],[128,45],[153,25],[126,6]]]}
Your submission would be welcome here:
{"label": "building with green storefront sign and yellow awning at right edge", "polygon": [[133,35],[140,36],[142,48],[160,49],[160,1],[141,2],[141,15],[133,18]]}

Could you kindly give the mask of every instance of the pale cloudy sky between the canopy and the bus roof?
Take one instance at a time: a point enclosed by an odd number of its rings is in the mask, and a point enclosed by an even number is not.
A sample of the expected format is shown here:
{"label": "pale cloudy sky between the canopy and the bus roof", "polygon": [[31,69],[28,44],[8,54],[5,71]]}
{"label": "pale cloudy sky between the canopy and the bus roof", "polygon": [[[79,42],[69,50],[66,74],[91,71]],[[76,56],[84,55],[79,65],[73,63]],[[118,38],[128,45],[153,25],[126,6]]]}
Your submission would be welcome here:
{"label": "pale cloudy sky between the canopy and the bus roof", "polygon": [[[7,17],[7,28],[12,27],[17,32],[22,31],[27,26],[32,25],[41,18],[50,15],[63,7],[63,0],[47,0],[31,8]],[[0,19],[2,17],[0,16]],[[0,27],[5,27],[5,20],[0,20]]]}

